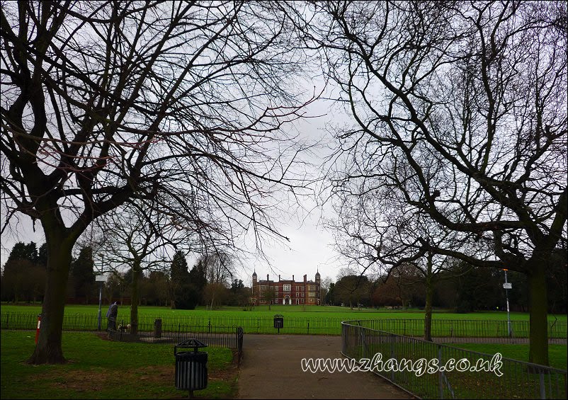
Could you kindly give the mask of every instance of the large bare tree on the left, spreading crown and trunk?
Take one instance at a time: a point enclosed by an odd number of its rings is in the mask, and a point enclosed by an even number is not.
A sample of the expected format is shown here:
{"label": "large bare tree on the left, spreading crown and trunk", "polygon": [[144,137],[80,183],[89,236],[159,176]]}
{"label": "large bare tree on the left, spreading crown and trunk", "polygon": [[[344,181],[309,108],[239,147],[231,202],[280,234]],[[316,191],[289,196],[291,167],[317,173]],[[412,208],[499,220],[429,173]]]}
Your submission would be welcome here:
{"label": "large bare tree on the left, spreading crown and trunk", "polygon": [[305,104],[278,4],[7,2],[0,26],[3,230],[28,215],[49,254],[30,362],[64,362],[72,248],[124,202],[161,193],[204,241],[278,236],[271,193],[301,184],[281,128]]}

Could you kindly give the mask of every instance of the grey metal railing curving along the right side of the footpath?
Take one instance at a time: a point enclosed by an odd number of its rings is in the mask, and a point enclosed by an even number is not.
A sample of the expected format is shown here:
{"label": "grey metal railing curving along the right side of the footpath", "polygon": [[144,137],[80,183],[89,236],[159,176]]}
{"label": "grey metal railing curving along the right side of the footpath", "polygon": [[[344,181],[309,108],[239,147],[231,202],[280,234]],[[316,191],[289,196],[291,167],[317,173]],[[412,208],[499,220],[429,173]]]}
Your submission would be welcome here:
{"label": "grey metal railing curving along the right side of the footpath", "polygon": [[[499,359],[497,355],[380,331],[372,325],[370,321],[341,324],[343,355],[356,361],[368,359],[370,370],[420,398],[567,398],[565,370]],[[438,368],[442,366],[445,371]],[[472,370],[474,367],[476,370]]]}

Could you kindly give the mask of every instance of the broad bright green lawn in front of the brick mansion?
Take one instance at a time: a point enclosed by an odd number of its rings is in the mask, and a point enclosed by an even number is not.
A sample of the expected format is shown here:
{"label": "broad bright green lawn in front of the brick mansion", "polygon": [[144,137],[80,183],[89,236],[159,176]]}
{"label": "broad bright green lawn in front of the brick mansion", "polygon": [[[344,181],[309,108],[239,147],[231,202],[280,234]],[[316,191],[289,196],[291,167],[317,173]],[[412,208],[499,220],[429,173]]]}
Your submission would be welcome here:
{"label": "broad bright green lawn in front of the brick mansion", "polygon": [[[101,310],[101,328],[106,328],[104,314],[108,306]],[[40,305],[1,305],[2,328],[33,329],[37,321]],[[280,331],[273,327],[273,316],[284,316],[284,327]],[[98,305],[65,307],[64,330],[94,331],[98,328]],[[550,338],[566,338],[567,316],[549,317]],[[239,307],[223,307],[208,310],[178,310],[166,307],[139,307],[138,321],[140,331],[152,331],[154,321],[162,320],[164,331],[191,331],[232,333],[237,326],[244,333],[263,334],[319,334],[340,335],[341,321],[369,320],[363,325],[380,331],[388,331],[403,336],[420,337],[424,334],[424,312],[419,310],[375,310],[348,309],[348,307],[319,306],[284,306],[276,305],[255,307],[252,311],[244,311]],[[511,321],[514,336],[528,337],[528,319],[526,313],[512,313]],[[506,337],[506,313],[474,312],[456,314],[435,312],[433,314],[432,335],[434,337]],[[130,306],[118,309],[118,324],[130,323]]]}

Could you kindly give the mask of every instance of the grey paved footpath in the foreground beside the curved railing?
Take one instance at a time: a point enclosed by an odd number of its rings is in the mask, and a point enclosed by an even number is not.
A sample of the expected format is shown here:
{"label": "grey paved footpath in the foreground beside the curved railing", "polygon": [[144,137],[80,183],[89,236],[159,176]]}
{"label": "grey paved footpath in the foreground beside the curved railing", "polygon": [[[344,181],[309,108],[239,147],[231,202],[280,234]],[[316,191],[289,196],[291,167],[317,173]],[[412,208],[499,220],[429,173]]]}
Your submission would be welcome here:
{"label": "grey paved footpath in the foreground beside the curved railing", "polygon": [[245,335],[239,399],[414,399],[372,372],[302,372],[302,358],[343,358],[341,336]]}

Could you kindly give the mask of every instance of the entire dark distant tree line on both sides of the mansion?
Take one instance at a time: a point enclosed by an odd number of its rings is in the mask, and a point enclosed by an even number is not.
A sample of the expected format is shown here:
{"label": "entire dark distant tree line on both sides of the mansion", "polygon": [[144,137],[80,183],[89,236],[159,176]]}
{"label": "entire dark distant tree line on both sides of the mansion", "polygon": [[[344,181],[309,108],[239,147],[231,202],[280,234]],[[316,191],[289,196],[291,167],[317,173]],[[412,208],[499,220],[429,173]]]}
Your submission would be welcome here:
{"label": "entire dark distant tree line on both sides of the mansion", "polygon": [[[567,312],[566,255],[547,273],[548,309],[552,313]],[[563,257],[563,258],[562,258]],[[47,247],[35,242],[16,243],[1,273],[1,301],[42,302],[46,279]],[[242,280],[232,278],[234,271],[227,256],[207,254],[198,258],[190,269],[182,251],[165,270],[149,270],[140,277],[140,305],[168,306],[172,309],[211,308],[222,305],[245,307],[250,288]],[[511,311],[528,311],[525,274],[507,272],[511,282]],[[103,301],[130,299],[132,269],[114,271],[103,283]],[[454,263],[439,273],[433,287],[433,306],[467,313],[477,310],[505,309],[504,271],[474,268],[463,262]],[[424,307],[426,283],[416,268],[403,265],[390,275],[369,278],[367,275],[343,273],[336,282],[327,280],[322,287],[324,304],[347,307]],[[93,251],[90,246],[79,249],[72,261],[67,283],[67,304],[94,304],[98,301]]]}

